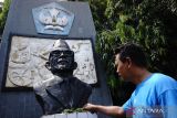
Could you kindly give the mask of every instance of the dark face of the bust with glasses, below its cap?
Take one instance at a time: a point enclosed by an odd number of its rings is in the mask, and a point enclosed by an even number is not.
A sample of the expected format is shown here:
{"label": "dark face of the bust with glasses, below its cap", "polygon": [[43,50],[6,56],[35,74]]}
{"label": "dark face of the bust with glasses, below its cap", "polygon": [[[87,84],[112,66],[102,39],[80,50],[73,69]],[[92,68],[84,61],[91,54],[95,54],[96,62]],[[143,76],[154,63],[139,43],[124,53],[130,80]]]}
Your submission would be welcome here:
{"label": "dark face of the bust with glasses, below its cap", "polygon": [[52,51],[49,62],[54,71],[73,71],[74,68],[74,52],[73,51]]}

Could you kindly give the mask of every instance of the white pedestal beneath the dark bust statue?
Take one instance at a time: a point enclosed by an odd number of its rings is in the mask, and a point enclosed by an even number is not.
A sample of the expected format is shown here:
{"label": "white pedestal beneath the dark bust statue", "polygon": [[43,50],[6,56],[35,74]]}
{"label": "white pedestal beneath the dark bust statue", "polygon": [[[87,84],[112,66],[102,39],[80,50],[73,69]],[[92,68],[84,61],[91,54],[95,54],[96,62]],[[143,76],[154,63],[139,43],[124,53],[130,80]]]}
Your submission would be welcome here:
{"label": "white pedestal beneath the dark bust statue", "polygon": [[97,115],[91,112],[73,112],[73,114],[45,115],[42,116],[41,118],[97,118]]}

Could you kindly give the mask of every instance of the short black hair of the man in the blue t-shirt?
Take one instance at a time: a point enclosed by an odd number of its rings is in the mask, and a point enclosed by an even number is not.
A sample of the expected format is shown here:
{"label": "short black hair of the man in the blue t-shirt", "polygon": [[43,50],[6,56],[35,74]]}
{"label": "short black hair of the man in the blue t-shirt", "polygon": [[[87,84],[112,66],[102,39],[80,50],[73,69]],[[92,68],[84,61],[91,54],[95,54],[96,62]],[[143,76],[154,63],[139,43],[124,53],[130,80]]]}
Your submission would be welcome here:
{"label": "short black hair of the man in the blue t-shirt", "polygon": [[147,67],[147,61],[143,49],[135,43],[126,43],[115,49],[115,55],[119,54],[119,60],[124,63],[126,57],[139,67]]}

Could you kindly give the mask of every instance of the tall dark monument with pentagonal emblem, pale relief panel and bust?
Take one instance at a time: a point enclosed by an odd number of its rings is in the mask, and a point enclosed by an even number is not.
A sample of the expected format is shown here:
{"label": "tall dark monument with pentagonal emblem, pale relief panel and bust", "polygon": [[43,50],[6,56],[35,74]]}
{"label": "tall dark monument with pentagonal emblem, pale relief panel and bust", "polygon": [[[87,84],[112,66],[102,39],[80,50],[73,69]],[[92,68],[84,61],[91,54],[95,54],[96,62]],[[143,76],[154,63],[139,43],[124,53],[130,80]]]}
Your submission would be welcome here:
{"label": "tall dark monument with pentagonal emblem, pale relief panel and bust", "polygon": [[0,117],[108,118],[82,109],[112,105],[95,35],[87,2],[12,0],[0,46]]}

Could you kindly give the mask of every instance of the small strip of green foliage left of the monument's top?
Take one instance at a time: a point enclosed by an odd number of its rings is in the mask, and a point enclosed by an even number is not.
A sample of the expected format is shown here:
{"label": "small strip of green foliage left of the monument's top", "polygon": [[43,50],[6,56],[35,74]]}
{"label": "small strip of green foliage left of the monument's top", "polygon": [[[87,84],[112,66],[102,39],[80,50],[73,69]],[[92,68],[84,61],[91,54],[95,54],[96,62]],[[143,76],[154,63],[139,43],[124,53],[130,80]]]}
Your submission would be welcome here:
{"label": "small strip of green foliage left of the monument's top", "polygon": [[8,11],[10,7],[10,0],[4,0],[2,11],[0,12],[0,34],[3,32],[3,28],[7,21]]}

